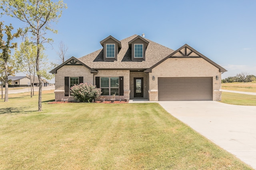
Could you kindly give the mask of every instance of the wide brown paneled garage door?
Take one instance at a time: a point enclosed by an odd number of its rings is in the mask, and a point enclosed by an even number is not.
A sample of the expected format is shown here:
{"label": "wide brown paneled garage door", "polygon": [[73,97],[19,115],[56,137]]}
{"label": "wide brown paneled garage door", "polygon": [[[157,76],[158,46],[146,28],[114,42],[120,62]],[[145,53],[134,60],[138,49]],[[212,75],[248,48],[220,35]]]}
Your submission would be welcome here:
{"label": "wide brown paneled garage door", "polygon": [[212,77],[158,78],[158,100],[212,100]]}

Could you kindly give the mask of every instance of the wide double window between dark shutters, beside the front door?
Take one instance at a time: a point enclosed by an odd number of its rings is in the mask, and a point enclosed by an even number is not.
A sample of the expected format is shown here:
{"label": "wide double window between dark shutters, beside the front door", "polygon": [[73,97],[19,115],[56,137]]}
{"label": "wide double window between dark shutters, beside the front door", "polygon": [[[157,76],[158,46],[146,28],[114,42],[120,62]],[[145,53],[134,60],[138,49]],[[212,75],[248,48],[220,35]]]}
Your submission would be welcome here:
{"label": "wide double window between dark shutters, beside the front door", "polygon": [[119,95],[119,78],[118,77],[101,77],[100,88],[101,95],[110,96],[113,94]]}

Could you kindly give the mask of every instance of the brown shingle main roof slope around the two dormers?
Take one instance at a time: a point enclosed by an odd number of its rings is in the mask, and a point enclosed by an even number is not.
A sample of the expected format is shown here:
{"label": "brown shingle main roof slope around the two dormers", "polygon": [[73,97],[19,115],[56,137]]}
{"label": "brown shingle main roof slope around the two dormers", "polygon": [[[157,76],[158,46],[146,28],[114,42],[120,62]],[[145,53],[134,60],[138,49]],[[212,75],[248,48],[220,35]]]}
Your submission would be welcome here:
{"label": "brown shingle main roof slope around the two dormers", "polygon": [[88,65],[90,68],[94,69],[146,69],[150,68],[154,64],[158,63],[166,56],[170,55],[174,50],[164,47],[153,41],[149,41],[148,47],[146,49],[145,61],[132,61],[132,52],[129,48],[128,42],[137,37],[138,35],[132,35],[126,39],[121,40],[122,48],[117,55],[117,61],[104,61],[103,48],[85,55],[79,58],[84,64]]}

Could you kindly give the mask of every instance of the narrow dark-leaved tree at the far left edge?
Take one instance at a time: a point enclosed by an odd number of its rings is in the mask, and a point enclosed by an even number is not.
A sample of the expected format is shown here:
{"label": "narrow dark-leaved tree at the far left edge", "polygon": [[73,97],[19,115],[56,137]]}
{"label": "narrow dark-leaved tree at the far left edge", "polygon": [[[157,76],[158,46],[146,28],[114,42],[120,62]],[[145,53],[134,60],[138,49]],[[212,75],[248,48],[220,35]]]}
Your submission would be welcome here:
{"label": "narrow dark-leaved tree at the far left edge", "polygon": [[[17,46],[17,43],[11,43],[12,39],[15,37],[19,37],[22,30],[18,29],[16,33],[12,34],[12,24],[5,25],[3,28],[3,23],[0,22],[0,50],[2,53],[0,54],[0,58],[4,61],[4,82],[5,82],[5,94],[4,94],[4,102],[8,102],[8,61],[10,59],[11,50]],[[5,31],[6,34],[6,41],[4,41],[4,34],[2,33]]]}

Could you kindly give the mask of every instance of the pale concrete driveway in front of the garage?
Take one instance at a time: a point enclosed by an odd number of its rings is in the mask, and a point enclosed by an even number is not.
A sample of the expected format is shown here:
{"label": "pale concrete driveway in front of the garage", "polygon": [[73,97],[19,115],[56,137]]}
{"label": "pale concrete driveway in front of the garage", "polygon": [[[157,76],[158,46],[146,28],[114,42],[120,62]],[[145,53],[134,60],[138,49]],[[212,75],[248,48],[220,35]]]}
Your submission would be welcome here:
{"label": "pale concrete driveway in front of the garage", "polygon": [[256,106],[214,101],[158,103],[174,117],[256,169]]}

